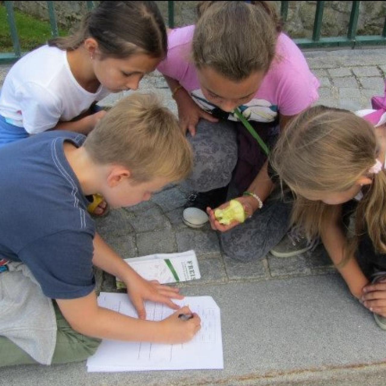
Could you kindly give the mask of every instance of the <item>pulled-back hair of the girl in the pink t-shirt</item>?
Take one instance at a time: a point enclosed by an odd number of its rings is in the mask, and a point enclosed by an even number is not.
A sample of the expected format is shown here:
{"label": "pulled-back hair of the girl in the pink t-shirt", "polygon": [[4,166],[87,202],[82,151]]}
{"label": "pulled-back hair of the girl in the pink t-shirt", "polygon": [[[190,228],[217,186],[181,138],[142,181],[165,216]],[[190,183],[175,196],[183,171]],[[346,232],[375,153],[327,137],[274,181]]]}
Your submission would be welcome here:
{"label": "pulled-back hair of the girl in the pink t-shirt", "polygon": [[268,71],[281,30],[276,9],[268,2],[200,2],[198,15],[192,42],[196,68],[213,68],[233,81]]}

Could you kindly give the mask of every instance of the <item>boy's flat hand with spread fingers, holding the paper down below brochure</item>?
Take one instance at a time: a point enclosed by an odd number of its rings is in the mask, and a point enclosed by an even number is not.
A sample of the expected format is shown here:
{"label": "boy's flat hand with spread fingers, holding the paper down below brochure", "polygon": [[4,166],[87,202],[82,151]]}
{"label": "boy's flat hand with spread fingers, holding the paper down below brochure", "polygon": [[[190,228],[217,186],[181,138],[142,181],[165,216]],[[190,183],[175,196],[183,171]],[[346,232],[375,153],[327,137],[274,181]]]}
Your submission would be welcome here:
{"label": "boy's flat hand with spread fingers, holding the paper down below brochure", "polygon": [[127,286],[127,293],[140,319],[146,319],[145,300],[163,303],[173,308],[173,310],[178,310],[179,306],[173,303],[171,299],[184,298],[178,293],[179,288],[159,284],[157,280],[148,281],[139,275],[130,277],[130,280],[125,281],[125,284]]}

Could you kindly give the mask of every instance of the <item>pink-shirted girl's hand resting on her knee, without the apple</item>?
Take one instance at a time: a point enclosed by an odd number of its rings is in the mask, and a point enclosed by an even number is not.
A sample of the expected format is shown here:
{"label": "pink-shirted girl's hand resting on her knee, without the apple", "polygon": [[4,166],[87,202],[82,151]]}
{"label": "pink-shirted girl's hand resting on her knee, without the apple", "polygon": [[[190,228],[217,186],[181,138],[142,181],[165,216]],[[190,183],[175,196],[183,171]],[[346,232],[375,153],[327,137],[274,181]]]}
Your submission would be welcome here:
{"label": "pink-shirted girl's hand resting on her knee, without the apple", "polygon": [[196,125],[200,118],[206,119],[209,122],[218,122],[218,119],[212,114],[202,110],[190,97],[188,92],[181,88],[176,92],[175,100],[178,107],[178,119],[183,133],[189,130],[190,134],[196,134]]}

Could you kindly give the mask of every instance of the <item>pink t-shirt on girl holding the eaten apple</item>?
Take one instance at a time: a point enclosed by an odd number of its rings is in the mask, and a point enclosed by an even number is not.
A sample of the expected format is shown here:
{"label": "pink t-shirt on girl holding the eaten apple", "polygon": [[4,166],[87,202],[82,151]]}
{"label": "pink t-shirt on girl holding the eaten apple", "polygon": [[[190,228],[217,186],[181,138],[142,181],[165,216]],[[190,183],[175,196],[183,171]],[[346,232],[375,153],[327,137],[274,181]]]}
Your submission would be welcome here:
{"label": "pink t-shirt on girl holding the eaten apple", "polygon": [[[168,57],[159,64],[158,70],[178,80],[193,100],[210,112],[214,106],[205,99],[196,68],[189,59],[194,29],[194,25],[189,25],[169,33]],[[300,49],[283,33],[278,37],[276,53],[278,59],[274,59],[254,98],[239,107],[248,120],[273,122],[279,112],[295,115],[319,97],[318,79],[311,73]],[[232,113],[228,119],[237,120]]]}

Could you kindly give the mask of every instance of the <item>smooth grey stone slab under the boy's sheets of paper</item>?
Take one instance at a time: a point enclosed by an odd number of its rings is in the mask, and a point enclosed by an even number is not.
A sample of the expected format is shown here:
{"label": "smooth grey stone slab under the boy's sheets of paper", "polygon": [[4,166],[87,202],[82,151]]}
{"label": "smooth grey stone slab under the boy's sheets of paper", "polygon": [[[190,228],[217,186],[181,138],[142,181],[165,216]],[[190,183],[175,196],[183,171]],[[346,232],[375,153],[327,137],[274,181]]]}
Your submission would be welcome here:
{"label": "smooth grey stone slab under the boy's sheets of paper", "polygon": [[337,275],[191,286],[182,293],[209,294],[220,307],[223,370],[87,374],[85,363],[20,366],[2,369],[0,384],[340,385],[334,374],[347,379],[345,369],[358,371],[350,386],[385,381],[384,331]]}

